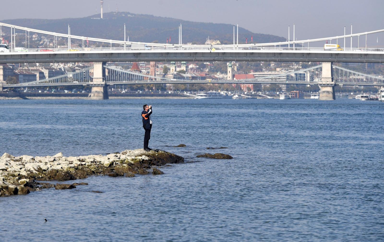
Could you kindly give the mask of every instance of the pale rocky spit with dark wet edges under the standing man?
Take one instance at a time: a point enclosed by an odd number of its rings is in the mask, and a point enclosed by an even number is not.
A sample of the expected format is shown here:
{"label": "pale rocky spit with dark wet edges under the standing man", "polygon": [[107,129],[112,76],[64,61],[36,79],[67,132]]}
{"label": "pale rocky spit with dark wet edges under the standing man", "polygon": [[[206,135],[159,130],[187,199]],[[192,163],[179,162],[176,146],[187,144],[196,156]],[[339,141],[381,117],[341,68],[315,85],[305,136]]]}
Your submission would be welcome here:
{"label": "pale rocky spit with dark wet edges under the standing man", "polygon": [[[42,181],[68,181],[84,179],[89,175],[134,177],[135,174],[162,174],[156,168],[166,164],[182,163],[184,158],[162,150],[124,150],[108,155],[65,157],[60,152],[54,156],[15,157],[4,153],[0,157],[0,197],[23,195],[41,189],[73,189],[74,184],[51,184]],[[151,169],[148,170],[148,169]]]}

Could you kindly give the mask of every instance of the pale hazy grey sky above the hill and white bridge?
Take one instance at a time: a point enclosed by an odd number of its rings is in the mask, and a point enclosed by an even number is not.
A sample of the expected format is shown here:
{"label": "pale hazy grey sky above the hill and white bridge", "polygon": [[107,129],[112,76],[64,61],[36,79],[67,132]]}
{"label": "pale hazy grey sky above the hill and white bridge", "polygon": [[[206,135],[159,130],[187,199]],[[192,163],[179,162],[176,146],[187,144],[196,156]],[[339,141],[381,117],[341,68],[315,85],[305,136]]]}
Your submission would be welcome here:
{"label": "pale hazy grey sky above the hill and white bridge", "polygon": [[[382,0],[104,0],[104,12],[116,11],[116,6],[119,12],[195,22],[238,23],[254,33],[285,38],[290,25],[291,39],[295,23],[297,40],[343,35],[344,25],[348,34],[351,24],[353,33],[384,29]],[[0,19],[78,18],[96,13],[100,13],[99,0],[12,0],[2,4]],[[228,30],[231,31],[232,28]],[[357,42],[356,37],[354,47]],[[360,38],[360,46],[364,42],[365,37]],[[384,33],[368,35],[367,42],[369,46],[384,47]],[[350,46],[350,39],[346,43]]]}

